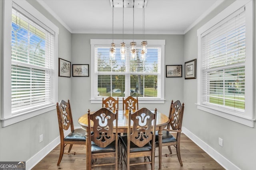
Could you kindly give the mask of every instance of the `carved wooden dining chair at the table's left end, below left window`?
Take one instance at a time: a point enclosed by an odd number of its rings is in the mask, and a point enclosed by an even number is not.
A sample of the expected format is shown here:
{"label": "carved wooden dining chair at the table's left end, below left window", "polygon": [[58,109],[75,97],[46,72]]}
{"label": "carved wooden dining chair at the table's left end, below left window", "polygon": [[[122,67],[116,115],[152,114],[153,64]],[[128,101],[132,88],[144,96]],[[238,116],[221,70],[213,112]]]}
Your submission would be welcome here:
{"label": "carved wooden dining chair at the table's left end, below left window", "polygon": [[[85,130],[82,128],[74,129],[74,122],[72,118],[72,112],[70,107],[70,101],[65,102],[60,100],[60,103],[56,103],[58,123],[60,130],[60,156],[57,165],[60,165],[63,154],[85,154],[85,153],[70,153],[73,145],[85,145],[86,137]],[[71,132],[65,137],[64,131],[70,128]],[[66,145],[70,145],[68,152],[64,152]]]}

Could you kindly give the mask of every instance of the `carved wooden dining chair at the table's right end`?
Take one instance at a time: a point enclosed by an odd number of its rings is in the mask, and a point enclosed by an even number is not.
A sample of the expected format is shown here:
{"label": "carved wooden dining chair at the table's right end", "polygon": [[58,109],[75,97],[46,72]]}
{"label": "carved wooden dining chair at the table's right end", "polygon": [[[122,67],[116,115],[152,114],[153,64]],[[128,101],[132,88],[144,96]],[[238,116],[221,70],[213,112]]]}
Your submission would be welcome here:
{"label": "carved wooden dining chair at the table's right end", "polygon": [[[168,147],[170,154],[165,154],[164,156],[177,155],[180,162],[180,166],[183,166],[181,156],[180,156],[180,134],[182,127],[182,119],[184,112],[184,103],[181,104],[179,100],[171,103],[170,112],[169,112],[169,123],[167,124],[166,129],[162,129],[162,147]],[[173,135],[172,133],[176,133]],[[156,147],[159,147],[158,143],[158,132],[156,132]],[[171,146],[176,148],[176,154],[172,154]],[[162,149],[162,148],[159,148]],[[161,156],[161,155],[159,155]]]}

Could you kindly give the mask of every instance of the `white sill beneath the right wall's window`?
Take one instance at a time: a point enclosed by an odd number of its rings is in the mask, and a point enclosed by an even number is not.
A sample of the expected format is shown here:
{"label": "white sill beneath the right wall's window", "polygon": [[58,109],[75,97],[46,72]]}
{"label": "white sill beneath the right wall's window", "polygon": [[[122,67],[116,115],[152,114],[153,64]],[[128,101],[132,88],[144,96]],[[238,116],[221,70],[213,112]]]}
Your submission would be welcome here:
{"label": "white sill beneath the right wall's window", "polygon": [[235,121],[237,123],[249,126],[249,127],[254,127],[254,121],[256,119],[252,119],[250,117],[245,117],[243,115],[234,115],[234,114],[230,114],[225,112],[225,110],[218,110],[214,107],[211,106],[207,106],[207,105],[203,105],[203,104],[196,104],[197,108],[203,111],[206,111],[208,113],[212,113],[214,115],[223,117],[225,119],[229,119],[231,121]]}

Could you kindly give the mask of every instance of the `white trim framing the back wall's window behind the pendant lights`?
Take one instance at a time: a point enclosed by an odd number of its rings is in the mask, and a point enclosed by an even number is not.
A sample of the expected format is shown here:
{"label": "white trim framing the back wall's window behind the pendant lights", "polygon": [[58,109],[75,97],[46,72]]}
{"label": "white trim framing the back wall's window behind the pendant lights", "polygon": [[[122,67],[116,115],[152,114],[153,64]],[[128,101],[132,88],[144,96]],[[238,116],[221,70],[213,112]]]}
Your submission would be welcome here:
{"label": "white trim framing the back wall's window behind the pendant lights", "polygon": [[[132,39],[124,39],[125,42],[132,42]],[[141,42],[143,41],[142,39],[134,39],[135,42]],[[165,40],[164,39],[151,39],[151,40],[147,40],[148,41],[148,45],[161,45],[161,70],[160,70],[160,80],[161,80],[161,89],[160,89],[160,94],[161,94],[161,98],[160,99],[147,99],[147,98],[139,98],[140,103],[142,104],[163,104],[164,103],[164,47],[165,47]],[[94,73],[94,56],[95,56],[95,49],[94,49],[94,45],[106,45],[106,44],[111,44],[112,43],[112,39],[91,39],[91,103],[94,104],[100,104],[102,103],[102,97],[95,97],[94,98],[94,92],[95,92],[95,84],[94,84],[94,80],[95,80],[95,75]],[[123,42],[122,39],[114,39],[114,42],[116,44],[120,44]],[[119,100],[120,103],[122,103],[122,100]]]}

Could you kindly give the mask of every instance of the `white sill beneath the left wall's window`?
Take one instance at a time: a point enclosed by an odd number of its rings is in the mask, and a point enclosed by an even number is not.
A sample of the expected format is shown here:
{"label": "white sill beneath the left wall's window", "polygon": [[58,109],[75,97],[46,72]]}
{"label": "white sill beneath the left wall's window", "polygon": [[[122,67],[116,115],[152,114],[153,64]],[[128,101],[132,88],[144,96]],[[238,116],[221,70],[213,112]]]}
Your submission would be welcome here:
{"label": "white sill beneath the left wall's window", "polygon": [[45,106],[45,107],[40,107],[40,108],[30,110],[29,112],[22,113],[20,115],[14,115],[12,117],[1,118],[0,120],[2,121],[2,127],[6,127],[6,126],[12,125],[14,123],[18,123],[20,121],[29,119],[29,118],[37,116],[37,115],[40,115],[42,113],[52,111],[54,109],[56,109],[56,105],[51,104],[51,105],[48,105],[48,106]]}

